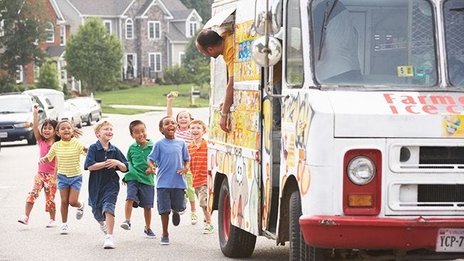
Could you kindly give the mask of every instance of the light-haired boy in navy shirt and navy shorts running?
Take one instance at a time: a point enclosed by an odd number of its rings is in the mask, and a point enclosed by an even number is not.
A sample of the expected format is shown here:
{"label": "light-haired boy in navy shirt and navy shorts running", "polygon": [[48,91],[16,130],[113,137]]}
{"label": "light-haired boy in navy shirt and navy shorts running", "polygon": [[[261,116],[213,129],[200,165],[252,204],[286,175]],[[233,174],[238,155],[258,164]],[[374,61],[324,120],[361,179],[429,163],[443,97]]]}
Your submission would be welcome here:
{"label": "light-haired boy in navy shirt and navy shorts running", "polygon": [[103,248],[115,248],[113,228],[117,194],[120,192],[120,176],[116,171],[125,172],[129,166],[124,154],[110,143],[112,124],[98,122],[94,131],[98,140],[90,145],[84,164],[84,169],[90,171],[88,203],[105,234]]}

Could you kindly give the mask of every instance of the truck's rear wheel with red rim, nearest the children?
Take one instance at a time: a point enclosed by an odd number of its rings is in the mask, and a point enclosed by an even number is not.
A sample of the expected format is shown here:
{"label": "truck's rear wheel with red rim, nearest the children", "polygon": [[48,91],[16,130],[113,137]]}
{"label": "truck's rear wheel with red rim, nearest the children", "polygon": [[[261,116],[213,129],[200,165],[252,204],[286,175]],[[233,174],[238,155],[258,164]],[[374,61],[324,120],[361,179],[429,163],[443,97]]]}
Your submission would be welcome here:
{"label": "truck's rear wheel with red rim, nearest the children", "polygon": [[226,257],[249,257],[253,254],[256,236],[231,225],[231,201],[227,179],[219,191],[218,233],[221,251]]}

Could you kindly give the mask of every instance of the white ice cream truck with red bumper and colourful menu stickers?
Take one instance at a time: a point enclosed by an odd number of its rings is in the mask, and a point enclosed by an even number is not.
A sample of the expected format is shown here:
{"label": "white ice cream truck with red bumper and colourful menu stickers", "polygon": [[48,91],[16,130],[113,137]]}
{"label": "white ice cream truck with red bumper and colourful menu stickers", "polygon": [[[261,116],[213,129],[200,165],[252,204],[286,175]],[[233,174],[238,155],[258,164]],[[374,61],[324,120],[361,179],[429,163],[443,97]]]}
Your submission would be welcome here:
{"label": "white ice cream truck with red bumper and colourful menu stickers", "polygon": [[464,0],[211,7],[205,28],[235,43],[230,132],[226,65],[211,59],[223,255],[252,255],[257,236],[289,243],[290,260],[464,255]]}

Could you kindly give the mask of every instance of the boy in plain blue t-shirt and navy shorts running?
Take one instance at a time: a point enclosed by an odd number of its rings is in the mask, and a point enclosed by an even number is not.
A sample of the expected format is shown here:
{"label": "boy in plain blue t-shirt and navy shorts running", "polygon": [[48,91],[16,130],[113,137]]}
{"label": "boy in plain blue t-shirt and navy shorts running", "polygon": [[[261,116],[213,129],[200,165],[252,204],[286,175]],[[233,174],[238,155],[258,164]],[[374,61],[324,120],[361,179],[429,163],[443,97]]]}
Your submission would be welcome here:
{"label": "boy in plain blue t-shirt and navy shorts running", "polygon": [[161,245],[169,245],[167,228],[171,210],[173,225],[179,225],[179,212],[185,210],[185,174],[190,167],[190,156],[185,142],[174,137],[176,125],[174,118],[169,116],[159,121],[159,132],[164,138],[154,144],[147,157],[150,169],[158,168],[157,203],[163,227]]}

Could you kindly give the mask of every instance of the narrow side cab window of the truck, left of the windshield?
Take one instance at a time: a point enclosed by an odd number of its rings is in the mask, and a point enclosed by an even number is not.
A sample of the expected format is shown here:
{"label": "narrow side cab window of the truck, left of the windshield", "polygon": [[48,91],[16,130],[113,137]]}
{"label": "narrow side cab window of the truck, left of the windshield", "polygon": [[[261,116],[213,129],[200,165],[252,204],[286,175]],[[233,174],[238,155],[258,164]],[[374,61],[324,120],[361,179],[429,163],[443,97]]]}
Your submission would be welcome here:
{"label": "narrow side cab window of the truck, left of the windshield", "polygon": [[288,87],[302,87],[304,77],[303,52],[301,44],[300,1],[287,2],[287,23],[285,23],[285,79]]}

